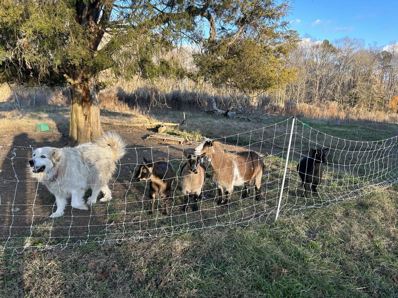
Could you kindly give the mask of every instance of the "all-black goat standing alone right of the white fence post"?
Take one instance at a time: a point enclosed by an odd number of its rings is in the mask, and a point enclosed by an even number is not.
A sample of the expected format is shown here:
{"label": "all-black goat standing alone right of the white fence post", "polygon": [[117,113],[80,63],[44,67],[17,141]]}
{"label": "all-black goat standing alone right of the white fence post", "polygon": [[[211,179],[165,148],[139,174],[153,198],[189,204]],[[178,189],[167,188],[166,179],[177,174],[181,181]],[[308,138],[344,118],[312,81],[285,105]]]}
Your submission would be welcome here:
{"label": "all-black goat standing alone right of the white fence post", "polygon": [[297,172],[304,186],[304,197],[307,197],[308,191],[318,194],[317,187],[321,182],[323,173],[322,163],[328,162],[326,155],[329,149],[310,149],[311,155],[304,157],[297,164]]}

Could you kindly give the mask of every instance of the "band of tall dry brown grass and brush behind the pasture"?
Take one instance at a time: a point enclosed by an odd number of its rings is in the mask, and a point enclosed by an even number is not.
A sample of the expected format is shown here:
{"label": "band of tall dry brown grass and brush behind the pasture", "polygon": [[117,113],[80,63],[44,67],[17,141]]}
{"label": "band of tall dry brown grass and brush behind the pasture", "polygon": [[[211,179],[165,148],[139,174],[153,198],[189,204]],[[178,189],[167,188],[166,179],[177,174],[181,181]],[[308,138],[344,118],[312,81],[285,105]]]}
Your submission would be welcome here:
{"label": "band of tall dry brown grass and brush behind the pasture", "polygon": [[[174,88],[174,89],[173,89]],[[342,109],[336,102],[322,104],[296,104],[286,101],[284,104],[273,104],[266,95],[247,97],[243,94],[231,93],[227,90],[216,90],[203,84],[198,86],[189,80],[179,83],[173,81],[158,81],[155,85],[148,85],[144,81],[125,84],[124,87],[106,88],[100,91],[100,107],[102,114],[120,123],[140,123],[155,118],[180,120],[181,112],[199,112],[203,108],[211,107],[212,99],[217,107],[226,109],[231,104],[243,106],[246,111],[261,111],[264,115],[296,116],[299,118],[332,119],[339,124],[349,124],[350,121],[398,123],[398,114],[384,111],[367,112],[359,108]],[[0,111],[18,109],[46,109],[55,110],[68,108],[70,94],[68,89],[40,89],[23,88],[21,86],[0,85]],[[117,117],[116,113],[121,114]],[[250,113],[250,112],[249,112]],[[6,114],[3,112],[3,114]],[[144,115],[144,116],[142,116]],[[178,116],[177,116],[178,115]],[[203,114],[204,115],[204,114]],[[206,118],[206,116],[203,116]],[[193,120],[201,120],[201,116]],[[262,117],[267,119],[269,117]],[[104,120],[105,121],[105,120]],[[220,117],[220,126],[224,119]],[[243,125],[244,129],[255,125]],[[194,130],[201,127],[195,125]],[[221,128],[222,129],[222,128]]]}

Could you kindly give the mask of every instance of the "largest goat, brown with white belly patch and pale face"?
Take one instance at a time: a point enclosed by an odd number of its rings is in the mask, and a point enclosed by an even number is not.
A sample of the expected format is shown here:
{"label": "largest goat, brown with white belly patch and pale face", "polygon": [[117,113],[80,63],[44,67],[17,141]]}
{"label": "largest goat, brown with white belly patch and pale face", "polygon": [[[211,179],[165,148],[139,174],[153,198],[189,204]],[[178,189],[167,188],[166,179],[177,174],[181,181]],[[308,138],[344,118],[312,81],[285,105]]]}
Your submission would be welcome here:
{"label": "largest goat, brown with white belly patch and pale face", "polygon": [[226,191],[226,202],[229,203],[234,186],[244,186],[243,198],[249,195],[249,186],[256,186],[256,200],[260,199],[261,175],[263,161],[254,151],[231,153],[222,149],[222,144],[205,139],[195,148],[195,155],[205,153],[213,167],[213,181],[219,190],[219,205],[224,203],[223,187]]}

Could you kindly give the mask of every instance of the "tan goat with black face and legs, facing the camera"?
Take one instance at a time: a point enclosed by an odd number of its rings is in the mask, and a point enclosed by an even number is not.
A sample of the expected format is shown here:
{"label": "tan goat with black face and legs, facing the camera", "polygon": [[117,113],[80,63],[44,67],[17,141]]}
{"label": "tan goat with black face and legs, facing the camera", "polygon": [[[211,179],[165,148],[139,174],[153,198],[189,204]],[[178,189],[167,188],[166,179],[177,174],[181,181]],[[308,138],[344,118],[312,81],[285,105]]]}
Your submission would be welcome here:
{"label": "tan goat with black face and legs, facing the camera", "polygon": [[184,195],[183,209],[187,211],[189,195],[193,195],[192,211],[198,210],[198,199],[203,198],[202,188],[206,179],[206,168],[200,164],[205,153],[199,156],[188,155],[183,152],[188,161],[181,169],[181,187]]}

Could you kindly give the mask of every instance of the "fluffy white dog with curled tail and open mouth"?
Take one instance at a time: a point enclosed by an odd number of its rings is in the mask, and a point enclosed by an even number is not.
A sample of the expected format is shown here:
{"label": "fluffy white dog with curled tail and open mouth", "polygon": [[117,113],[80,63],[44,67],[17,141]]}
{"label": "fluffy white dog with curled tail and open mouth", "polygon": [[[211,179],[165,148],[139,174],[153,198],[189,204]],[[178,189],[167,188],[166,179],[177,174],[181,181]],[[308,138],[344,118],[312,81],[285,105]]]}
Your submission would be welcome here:
{"label": "fluffy white dog with curled tail and open mouth", "polygon": [[69,197],[72,197],[72,208],[87,210],[83,197],[88,189],[92,190],[88,204],[97,202],[100,191],[104,195],[100,202],[108,202],[112,197],[107,184],[116,170],[116,161],[125,155],[124,148],[125,142],[112,131],[94,143],[74,148],[35,149],[29,160],[29,172],[55,195],[57,210],[50,217],[64,215]]}

